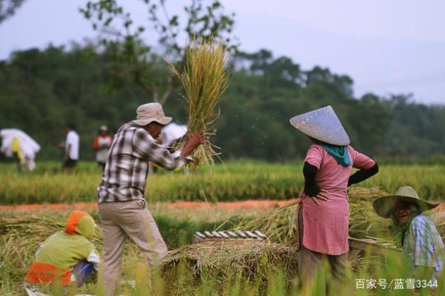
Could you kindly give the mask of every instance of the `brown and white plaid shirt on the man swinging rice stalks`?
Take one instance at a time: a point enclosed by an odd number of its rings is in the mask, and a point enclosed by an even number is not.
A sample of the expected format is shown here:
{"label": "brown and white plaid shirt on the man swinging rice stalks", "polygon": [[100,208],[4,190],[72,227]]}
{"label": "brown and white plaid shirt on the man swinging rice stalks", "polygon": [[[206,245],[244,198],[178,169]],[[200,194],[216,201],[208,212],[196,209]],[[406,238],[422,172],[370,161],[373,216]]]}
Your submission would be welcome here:
{"label": "brown and white plaid shirt on the man swinging rice stalks", "polygon": [[123,124],[114,137],[97,188],[99,204],[144,199],[149,161],[166,170],[175,170],[188,162],[183,157],[173,157],[175,154],[179,152],[170,154],[137,124]]}

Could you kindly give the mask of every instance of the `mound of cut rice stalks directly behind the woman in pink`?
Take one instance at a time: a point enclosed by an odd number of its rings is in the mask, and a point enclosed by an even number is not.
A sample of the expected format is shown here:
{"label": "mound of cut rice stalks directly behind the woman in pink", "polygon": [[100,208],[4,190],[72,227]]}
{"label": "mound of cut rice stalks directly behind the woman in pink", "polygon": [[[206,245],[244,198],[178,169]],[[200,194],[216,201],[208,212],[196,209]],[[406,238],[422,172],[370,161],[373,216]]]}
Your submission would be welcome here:
{"label": "mound of cut rice stalks directly behind the woman in pink", "polygon": [[[372,209],[372,201],[387,193],[378,188],[353,187],[349,191],[349,235],[351,237],[367,237],[381,235],[387,230],[389,221],[381,219]],[[298,204],[290,204],[277,208],[255,218],[246,218],[240,222],[236,230],[258,229],[275,243],[295,243],[296,209]]]}

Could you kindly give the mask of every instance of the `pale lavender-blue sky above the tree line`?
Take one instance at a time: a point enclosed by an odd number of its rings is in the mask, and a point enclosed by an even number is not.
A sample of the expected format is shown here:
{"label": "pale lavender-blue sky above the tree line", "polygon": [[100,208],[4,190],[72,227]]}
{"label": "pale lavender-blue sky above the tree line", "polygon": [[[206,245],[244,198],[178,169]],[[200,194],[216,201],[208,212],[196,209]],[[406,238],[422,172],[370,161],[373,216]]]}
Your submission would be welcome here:
{"label": "pale lavender-blue sky above the tree line", "polygon": [[[25,1],[0,24],[0,59],[15,50],[95,38],[78,12],[86,2]],[[126,0],[125,8],[144,22],[147,14],[140,2]],[[166,2],[170,14],[181,14],[186,0]],[[357,97],[412,93],[419,103],[445,105],[443,0],[221,2],[236,14],[234,35],[242,51],[269,49],[275,57],[291,57],[303,70],[318,65],[348,75]]]}

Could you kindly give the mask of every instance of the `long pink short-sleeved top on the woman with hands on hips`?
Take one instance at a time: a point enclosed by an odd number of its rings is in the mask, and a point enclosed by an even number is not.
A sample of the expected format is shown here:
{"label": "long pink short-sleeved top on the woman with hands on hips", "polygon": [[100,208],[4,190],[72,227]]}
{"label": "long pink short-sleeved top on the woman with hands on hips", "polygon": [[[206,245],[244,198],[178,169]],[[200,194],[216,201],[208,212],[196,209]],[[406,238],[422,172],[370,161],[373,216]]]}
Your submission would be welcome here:
{"label": "long pink short-sleeved top on the woman with hands on hips", "polygon": [[327,191],[327,201],[318,205],[312,198],[303,198],[303,245],[312,251],[329,255],[348,252],[349,204],[348,179],[353,167],[368,170],[375,162],[348,146],[351,164],[340,165],[322,146],[314,144],[307,150],[305,162],[318,168],[315,182]]}

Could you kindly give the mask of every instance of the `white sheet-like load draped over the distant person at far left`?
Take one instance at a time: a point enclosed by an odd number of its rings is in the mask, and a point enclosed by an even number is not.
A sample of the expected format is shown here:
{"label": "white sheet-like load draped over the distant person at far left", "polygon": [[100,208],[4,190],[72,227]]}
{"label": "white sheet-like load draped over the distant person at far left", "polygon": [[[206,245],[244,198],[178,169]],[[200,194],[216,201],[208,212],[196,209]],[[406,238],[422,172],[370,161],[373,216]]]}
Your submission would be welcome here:
{"label": "white sheet-like load draped over the distant person at far left", "polygon": [[33,138],[19,129],[1,129],[0,137],[0,151],[5,154],[6,157],[12,157],[12,143],[14,137],[16,137],[23,159],[25,159],[25,166],[28,170],[34,170],[36,167],[34,159],[36,158],[36,153],[40,150],[40,145],[34,141]]}

